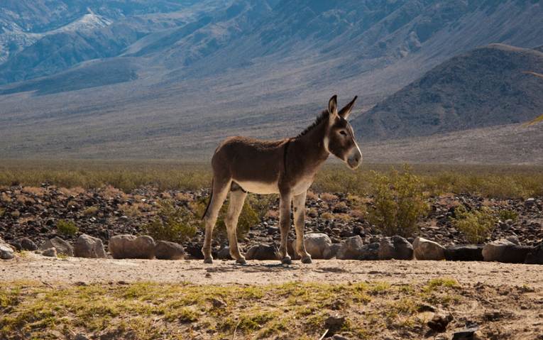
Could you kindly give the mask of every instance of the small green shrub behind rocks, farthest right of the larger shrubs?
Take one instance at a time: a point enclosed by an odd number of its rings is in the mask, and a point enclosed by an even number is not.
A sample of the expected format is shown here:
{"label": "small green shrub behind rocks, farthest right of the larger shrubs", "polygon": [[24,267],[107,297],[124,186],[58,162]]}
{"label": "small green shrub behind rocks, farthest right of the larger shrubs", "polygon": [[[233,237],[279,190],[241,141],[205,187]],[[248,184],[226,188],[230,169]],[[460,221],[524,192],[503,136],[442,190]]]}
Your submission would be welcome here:
{"label": "small green shrub behind rocks, farthest right of the larger shrubs", "polygon": [[456,229],[466,236],[468,242],[482,243],[492,234],[496,218],[492,210],[487,207],[468,211],[464,205],[461,205],[455,209],[455,217],[452,221]]}

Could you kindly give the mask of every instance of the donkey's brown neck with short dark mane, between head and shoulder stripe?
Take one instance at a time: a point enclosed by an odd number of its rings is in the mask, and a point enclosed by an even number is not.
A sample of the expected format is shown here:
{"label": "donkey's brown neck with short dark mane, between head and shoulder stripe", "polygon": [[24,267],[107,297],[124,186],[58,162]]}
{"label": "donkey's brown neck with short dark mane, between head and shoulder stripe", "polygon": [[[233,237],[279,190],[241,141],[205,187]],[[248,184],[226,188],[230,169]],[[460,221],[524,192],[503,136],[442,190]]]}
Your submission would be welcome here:
{"label": "donkey's brown neck with short dark mane, between head and shoulder stripe", "polygon": [[327,127],[328,119],[323,119],[305,134],[294,138],[290,142],[292,143],[292,149],[296,150],[297,153],[295,162],[300,166],[299,170],[306,173],[317,172],[322,163],[327,160],[330,154],[324,147]]}

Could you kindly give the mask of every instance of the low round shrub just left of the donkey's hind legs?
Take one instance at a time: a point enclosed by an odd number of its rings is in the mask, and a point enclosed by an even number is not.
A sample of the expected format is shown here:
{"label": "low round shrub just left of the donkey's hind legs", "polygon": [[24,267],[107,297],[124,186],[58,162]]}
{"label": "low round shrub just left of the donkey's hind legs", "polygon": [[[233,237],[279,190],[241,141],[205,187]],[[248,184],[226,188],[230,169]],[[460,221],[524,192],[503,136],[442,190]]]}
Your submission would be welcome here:
{"label": "low round shrub just left of the donkey's hind legs", "polygon": [[194,236],[198,219],[185,207],[175,207],[169,201],[158,202],[158,214],[143,230],[157,241],[183,242]]}

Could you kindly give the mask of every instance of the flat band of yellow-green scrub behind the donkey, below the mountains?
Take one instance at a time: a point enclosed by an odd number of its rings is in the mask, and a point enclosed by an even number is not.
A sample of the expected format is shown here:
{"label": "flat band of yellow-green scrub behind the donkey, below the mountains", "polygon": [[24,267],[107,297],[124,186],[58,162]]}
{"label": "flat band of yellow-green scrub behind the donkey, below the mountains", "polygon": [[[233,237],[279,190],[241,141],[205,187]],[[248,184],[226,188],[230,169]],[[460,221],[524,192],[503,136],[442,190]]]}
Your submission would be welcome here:
{"label": "flat band of yellow-green scrub behind the donkey, below the mountains", "polygon": [[[57,187],[100,188],[111,186],[111,197],[152,185],[164,190],[209,188],[212,172],[208,163],[170,161],[2,160],[0,185],[39,187],[48,182]],[[364,196],[371,192],[371,170],[388,173],[393,165],[366,164],[351,171],[329,163],[317,175],[312,192],[349,192]],[[395,168],[400,168],[395,166]],[[471,192],[498,199],[543,195],[543,167],[512,165],[413,165],[424,191],[429,194]],[[81,190],[72,191],[77,194]],[[311,194],[310,194],[311,197]],[[333,200],[333,197],[324,198]],[[323,198],[323,199],[324,199]]]}

